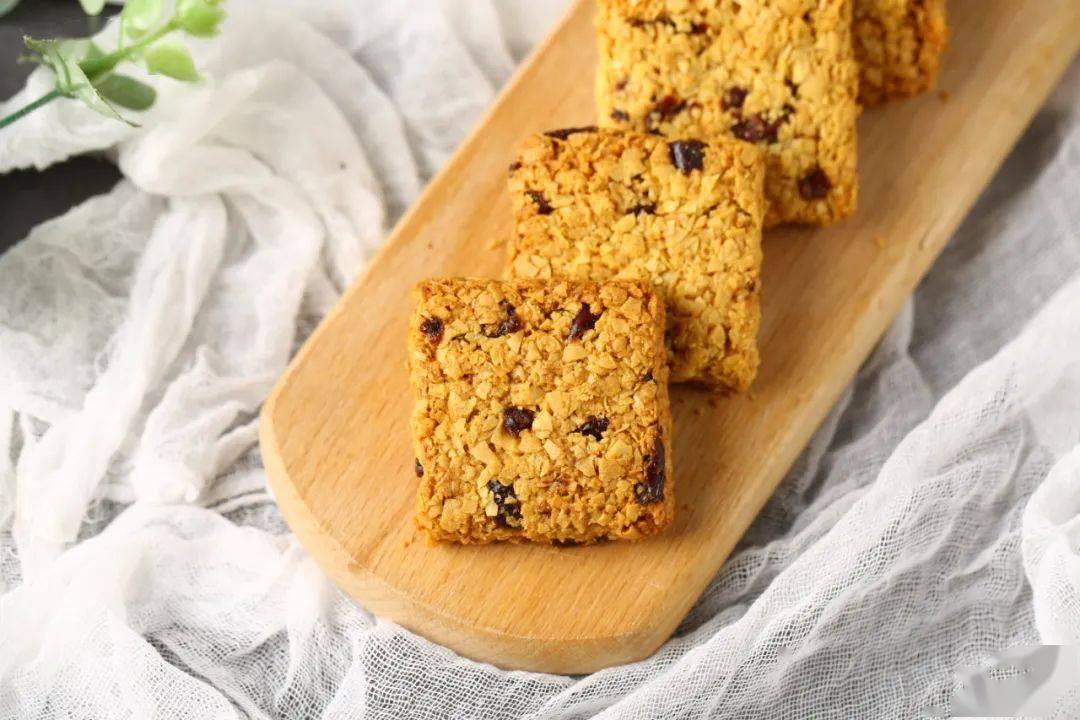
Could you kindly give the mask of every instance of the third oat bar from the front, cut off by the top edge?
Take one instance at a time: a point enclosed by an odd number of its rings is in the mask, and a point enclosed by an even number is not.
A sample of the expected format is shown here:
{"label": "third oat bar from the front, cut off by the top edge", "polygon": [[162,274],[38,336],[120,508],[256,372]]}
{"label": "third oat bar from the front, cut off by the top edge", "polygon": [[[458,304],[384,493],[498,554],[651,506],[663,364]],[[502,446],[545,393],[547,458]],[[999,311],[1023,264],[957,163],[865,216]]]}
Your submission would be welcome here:
{"label": "third oat bar from the front, cut off by the top edge", "polygon": [[600,124],[766,150],[766,227],[855,209],[851,0],[598,0]]}

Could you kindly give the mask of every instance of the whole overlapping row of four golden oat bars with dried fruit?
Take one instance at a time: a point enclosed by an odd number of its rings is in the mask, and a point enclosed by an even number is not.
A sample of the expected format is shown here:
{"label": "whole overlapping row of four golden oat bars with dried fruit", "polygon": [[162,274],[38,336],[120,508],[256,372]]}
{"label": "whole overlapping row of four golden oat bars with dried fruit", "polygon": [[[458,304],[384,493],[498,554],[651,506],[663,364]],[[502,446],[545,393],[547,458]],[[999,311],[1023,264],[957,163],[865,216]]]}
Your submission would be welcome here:
{"label": "whole overlapping row of four golden oat bars with dried fruit", "polygon": [[420,283],[417,524],[555,545],[674,517],[667,382],[758,366],[762,228],[856,203],[860,103],[930,87],[944,0],[598,0],[602,127],[527,138],[505,280]]}

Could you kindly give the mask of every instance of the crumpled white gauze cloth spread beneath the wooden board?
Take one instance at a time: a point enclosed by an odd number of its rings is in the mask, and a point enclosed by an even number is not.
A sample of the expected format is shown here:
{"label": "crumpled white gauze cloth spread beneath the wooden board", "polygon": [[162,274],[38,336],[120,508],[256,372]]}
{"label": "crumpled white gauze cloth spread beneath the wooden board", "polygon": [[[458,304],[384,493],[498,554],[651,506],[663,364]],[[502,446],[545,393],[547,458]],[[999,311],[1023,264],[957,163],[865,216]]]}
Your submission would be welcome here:
{"label": "crumpled white gauze cloth spread beneath the wooden board", "polygon": [[562,5],[230,0],[141,127],[0,133],[124,175],[0,257],[0,718],[909,718],[1080,642],[1080,66],[652,657],[474,663],[296,544],[259,403]]}

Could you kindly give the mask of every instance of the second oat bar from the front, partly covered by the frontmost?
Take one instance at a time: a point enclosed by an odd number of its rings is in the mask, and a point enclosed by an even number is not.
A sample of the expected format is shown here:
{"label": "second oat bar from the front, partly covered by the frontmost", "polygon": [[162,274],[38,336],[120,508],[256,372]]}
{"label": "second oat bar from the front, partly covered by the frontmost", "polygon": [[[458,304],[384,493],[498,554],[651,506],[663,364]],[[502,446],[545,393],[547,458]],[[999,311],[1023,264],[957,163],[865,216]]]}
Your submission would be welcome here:
{"label": "second oat bar from the front, partly covered by the frontmost", "polygon": [[672,380],[745,390],[758,366],[765,163],[754,146],[613,130],[525,140],[507,273],[653,282]]}

